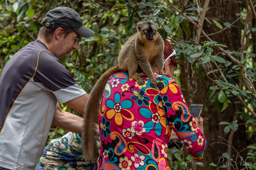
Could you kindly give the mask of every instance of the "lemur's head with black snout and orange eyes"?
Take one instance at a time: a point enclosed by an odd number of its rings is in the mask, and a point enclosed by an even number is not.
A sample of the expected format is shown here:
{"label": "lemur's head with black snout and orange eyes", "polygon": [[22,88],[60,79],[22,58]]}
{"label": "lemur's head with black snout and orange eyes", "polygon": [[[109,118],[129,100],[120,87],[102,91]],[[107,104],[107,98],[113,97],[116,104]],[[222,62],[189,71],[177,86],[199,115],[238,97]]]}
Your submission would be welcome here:
{"label": "lemur's head with black snout and orange eyes", "polygon": [[153,22],[143,21],[138,26],[138,32],[140,32],[140,38],[145,38],[148,41],[156,38],[158,25]]}

